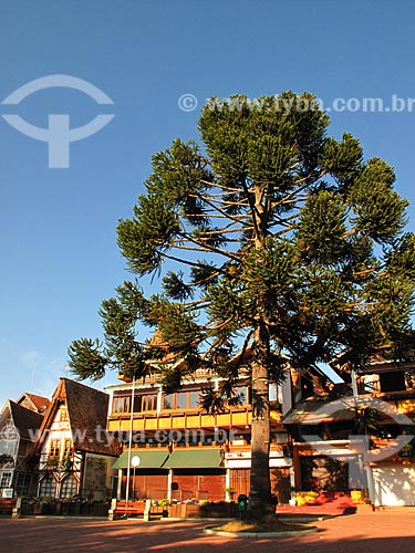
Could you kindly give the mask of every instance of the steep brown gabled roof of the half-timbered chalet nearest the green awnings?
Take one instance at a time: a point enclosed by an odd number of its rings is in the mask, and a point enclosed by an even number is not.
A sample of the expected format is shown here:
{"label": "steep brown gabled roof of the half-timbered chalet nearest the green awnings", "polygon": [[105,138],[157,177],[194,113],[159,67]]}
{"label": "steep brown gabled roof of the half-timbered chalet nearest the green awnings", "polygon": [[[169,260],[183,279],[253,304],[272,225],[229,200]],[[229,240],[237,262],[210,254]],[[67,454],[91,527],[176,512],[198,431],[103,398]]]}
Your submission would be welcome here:
{"label": "steep brown gabled roof of the half-timbered chalet nearest the green awnings", "polygon": [[75,449],[118,456],[118,441],[105,431],[108,400],[104,392],[62,377],[44,415],[35,452],[39,453],[60,405],[65,404]]}

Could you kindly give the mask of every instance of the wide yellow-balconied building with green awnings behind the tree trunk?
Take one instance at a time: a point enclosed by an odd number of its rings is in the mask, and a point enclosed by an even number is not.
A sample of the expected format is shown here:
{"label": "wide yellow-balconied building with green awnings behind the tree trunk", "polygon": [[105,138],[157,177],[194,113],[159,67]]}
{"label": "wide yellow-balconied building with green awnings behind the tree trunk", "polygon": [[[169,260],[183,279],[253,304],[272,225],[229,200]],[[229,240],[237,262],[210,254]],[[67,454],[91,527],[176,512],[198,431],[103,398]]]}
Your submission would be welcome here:
{"label": "wide yellow-balconied building with green awnings behind the tree trunk", "polygon": [[[180,392],[164,394],[153,379],[113,385],[107,430],[124,450],[115,462],[117,499],[230,500],[249,494],[251,406],[248,380],[240,380],[241,404],[217,415],[199,406],[200,389],[219,379],[200,369]],[[280,502],[291,494],[287,431],[281,426],[281,390],[271,390],[270,474]],[[132,408],[133,406],[133,408]],[[129,430],[133,430],[129,434]],[[129,470],[128,470],[129,465]]]}

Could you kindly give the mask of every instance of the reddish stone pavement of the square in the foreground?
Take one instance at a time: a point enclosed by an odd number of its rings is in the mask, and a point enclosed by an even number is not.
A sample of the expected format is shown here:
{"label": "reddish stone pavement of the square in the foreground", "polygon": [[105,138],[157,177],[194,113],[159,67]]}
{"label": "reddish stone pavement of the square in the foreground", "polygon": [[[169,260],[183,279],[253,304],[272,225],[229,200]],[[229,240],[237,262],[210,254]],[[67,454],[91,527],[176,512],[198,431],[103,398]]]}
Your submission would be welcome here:
{"label": "reddish stone pavement of the square in the foreground", "polygon": [[283,539],[211,536],[206,521],[0,519],[0,553],[415,553],[415,513],[370,512],[314,524],[319,532]]}

